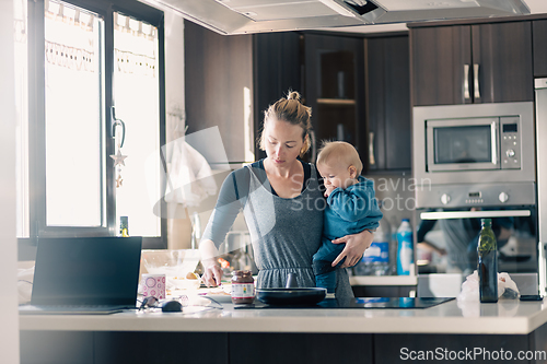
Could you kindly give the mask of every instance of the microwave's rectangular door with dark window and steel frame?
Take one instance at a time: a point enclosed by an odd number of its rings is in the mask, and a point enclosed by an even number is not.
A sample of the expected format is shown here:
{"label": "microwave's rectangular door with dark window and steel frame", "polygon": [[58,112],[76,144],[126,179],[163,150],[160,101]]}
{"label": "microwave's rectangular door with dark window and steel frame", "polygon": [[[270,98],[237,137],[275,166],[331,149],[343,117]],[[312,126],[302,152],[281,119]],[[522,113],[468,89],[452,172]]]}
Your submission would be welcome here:
{"label": "microwave's rectangular door with dark window and steel frame", "polygon": [[499,169],[499,118],[427,120],[429,172]]}

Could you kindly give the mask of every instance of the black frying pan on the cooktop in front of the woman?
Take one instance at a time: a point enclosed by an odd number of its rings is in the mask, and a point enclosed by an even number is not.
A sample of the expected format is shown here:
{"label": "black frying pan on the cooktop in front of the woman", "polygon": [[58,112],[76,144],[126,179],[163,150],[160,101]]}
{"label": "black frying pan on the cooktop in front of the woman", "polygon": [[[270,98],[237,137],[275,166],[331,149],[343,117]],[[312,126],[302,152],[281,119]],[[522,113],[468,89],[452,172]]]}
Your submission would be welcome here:
{"label": "black frying pan on the cooktop in front of the woman", "polygon": [[287,275],[284,289],[257,289],[256,298],[268,305],[315,305],[327,294],[326,289],[299,287],[295,273]]}

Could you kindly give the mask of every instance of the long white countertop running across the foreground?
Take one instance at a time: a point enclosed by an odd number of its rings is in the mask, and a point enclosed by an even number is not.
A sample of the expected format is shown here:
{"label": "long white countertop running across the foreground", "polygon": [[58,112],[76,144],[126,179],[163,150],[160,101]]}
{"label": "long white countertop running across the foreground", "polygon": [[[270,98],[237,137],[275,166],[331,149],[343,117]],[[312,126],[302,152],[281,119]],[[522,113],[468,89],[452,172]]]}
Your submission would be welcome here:
{"label": "long white countertop running across the foreground", "polygon": [[190,306],[174,314],[20,316],[21,330],[75,331],[527,334],[545,322],[547,300],[464,305],[454,300],[424,309],[234,309],[223,304],[222,309]]}

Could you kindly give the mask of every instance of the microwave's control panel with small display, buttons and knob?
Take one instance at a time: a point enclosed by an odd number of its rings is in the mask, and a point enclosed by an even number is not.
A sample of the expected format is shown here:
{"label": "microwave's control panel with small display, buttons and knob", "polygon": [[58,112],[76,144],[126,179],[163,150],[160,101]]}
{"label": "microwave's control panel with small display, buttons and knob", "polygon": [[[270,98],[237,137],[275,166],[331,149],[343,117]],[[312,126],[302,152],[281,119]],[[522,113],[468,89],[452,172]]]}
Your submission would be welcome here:
{"label": "microwave's control panel with small display, buttons and knob", "polygon": [[521,168],[521,136],[519,117],[500,118],[500,162],[502,169]]}

